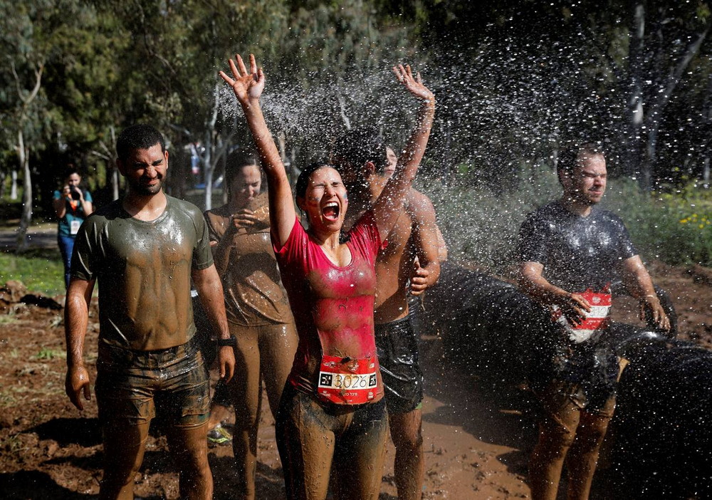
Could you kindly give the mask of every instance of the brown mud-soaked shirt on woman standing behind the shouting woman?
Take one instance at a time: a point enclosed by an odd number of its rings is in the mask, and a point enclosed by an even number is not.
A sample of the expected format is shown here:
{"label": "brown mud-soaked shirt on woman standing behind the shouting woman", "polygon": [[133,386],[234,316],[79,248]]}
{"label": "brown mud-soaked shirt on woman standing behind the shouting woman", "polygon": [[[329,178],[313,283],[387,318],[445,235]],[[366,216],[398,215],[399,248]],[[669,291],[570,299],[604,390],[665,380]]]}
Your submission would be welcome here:
{"label": "brown mud-soaked shirt on woman standing behind the shouting woman", "polygon": [[[257,197],[253,215],[265,224],[232,236],[227,269],[221,276],[228,321],[242,326],[291,323],[287,294],[282,288],[270,242],[267,197]],[[205,212],[211,241],[220,241],[232,214],[227,205]]]}

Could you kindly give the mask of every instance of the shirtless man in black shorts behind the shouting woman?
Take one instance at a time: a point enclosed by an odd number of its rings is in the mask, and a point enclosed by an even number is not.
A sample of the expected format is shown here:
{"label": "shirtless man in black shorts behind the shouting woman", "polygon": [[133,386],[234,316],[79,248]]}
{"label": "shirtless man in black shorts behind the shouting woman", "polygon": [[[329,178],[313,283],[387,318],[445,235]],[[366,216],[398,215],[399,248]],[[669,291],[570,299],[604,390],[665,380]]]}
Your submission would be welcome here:
{"label": "shirtless man in black shorts behind the shouting woman", "polygon": [[[392,172],[387,170],[387,149],[377,130],[350,130],[337,141],[334,156],[349,193],[347,229],[371,208]],[[376,260],[374,322],[389,427],[396,447],[398,496],[410,500],[422,496],[425,459],[423,375],[418,365],[417,336],[408,318],[407,283],[410,280],[413,295],[420,295],[436,283],[440,263],[432,203],[410,189],[404,208],[388,235],[388,246],[379,251]]]}

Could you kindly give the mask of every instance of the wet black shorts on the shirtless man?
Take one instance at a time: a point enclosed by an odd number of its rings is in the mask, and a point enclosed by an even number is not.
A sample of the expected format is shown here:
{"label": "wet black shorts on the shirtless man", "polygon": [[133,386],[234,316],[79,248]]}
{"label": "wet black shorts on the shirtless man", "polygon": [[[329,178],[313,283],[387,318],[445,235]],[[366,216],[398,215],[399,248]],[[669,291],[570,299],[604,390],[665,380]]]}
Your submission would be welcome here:
{"label": "wet black shorts on the shirtless man", "polygon": [[375,336],[388,412],[416,410],[423,401],[423,373],[410,318],[375,325]]}

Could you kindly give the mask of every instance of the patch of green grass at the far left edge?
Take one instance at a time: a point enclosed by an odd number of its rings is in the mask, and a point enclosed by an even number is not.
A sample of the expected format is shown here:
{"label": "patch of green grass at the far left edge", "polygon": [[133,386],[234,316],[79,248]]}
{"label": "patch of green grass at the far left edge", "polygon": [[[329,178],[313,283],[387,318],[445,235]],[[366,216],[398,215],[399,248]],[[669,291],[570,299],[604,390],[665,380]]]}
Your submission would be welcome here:
{"label": "patch of green grass at the far left edge", "polygon": [[21,255],[0,253],[0,286],[6,281],[24,283],[31,293],[64,293],[64,267],[58,249],[31,249]]}

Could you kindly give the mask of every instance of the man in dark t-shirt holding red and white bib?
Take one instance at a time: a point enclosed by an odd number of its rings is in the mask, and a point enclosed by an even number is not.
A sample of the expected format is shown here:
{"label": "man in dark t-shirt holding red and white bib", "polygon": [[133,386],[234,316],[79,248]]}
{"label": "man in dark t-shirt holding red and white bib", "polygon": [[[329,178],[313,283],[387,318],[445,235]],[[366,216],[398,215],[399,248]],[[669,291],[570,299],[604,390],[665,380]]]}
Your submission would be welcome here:
{"label": "man in dark t-shirt holding red and white bib", "polygon": [[[519,286],[550,309],[555,338],[542,338],[533,390],[543,417],[530,460],[533,500],[554,500],[563,462],[569,500],[588,498],[600,444],[615,407],[619,363],[607,343],[609,285],[622,278],[641,311],[670,323],[622,221],[595,207],[606,189],[597,145],[569,145],[557,165],[561,199],[529,214],[519,234]],[[540,347],[540,346],[538,346]]]}

